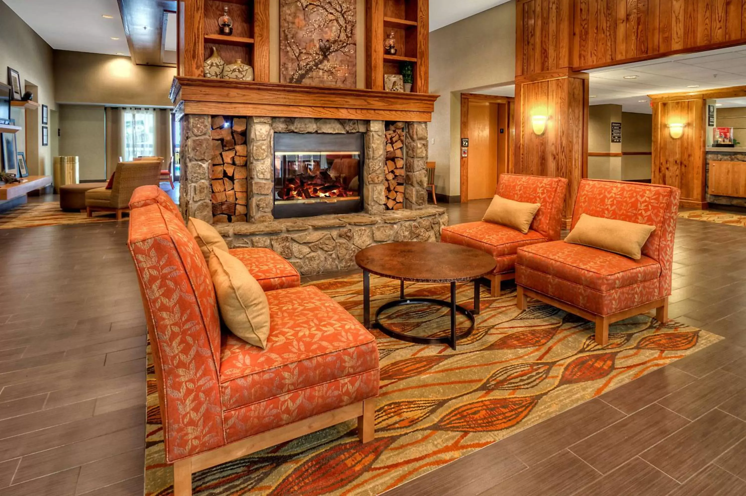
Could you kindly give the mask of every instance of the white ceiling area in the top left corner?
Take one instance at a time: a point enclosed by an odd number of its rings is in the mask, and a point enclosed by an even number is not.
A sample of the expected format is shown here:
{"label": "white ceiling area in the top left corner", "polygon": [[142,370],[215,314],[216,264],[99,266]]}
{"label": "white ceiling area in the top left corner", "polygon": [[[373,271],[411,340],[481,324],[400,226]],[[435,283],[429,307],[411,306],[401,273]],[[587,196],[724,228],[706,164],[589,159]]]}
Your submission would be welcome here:
{"label": "white ceiling area in the top left corner", "polygon": [[[117,0],[2,1],[51,48],[94,54],[130,54]],[[103,15],[113,19],[104,19]]]}

